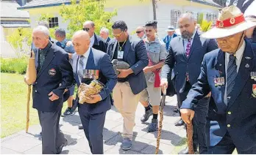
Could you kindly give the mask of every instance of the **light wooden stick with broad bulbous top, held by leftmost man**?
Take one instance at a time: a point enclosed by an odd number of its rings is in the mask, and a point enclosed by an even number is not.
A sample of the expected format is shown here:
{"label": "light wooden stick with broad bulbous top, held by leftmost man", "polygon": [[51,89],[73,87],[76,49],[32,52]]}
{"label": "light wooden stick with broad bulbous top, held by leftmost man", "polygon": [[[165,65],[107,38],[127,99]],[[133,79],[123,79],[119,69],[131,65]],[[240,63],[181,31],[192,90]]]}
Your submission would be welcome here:
{"label": "light wooden stick with broad bulbous top, held by leftmost man", "polygon": [[29,102],[31,94],[31,85],[35,83],[37,77],[37,71],[35,68],[35,53],[31,51],[31,57],[26,67],[26,75],[24,77],[25,83],[28,84],[27,102],[26,102],[26,133],[29,130]]}

